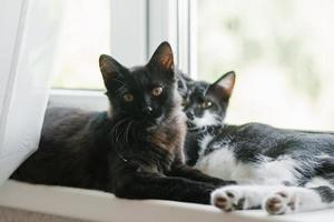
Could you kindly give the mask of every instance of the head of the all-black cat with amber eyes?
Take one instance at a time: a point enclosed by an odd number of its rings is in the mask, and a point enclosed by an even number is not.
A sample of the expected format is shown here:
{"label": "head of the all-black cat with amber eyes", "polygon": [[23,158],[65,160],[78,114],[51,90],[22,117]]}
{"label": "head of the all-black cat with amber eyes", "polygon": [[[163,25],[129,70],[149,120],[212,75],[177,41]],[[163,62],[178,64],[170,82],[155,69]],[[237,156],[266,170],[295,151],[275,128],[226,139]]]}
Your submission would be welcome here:
{"label": "head of the all-black cat with amber eyes", "polygon": [[106,54],[100,56],[99,64],[112,115],[153,125],[179,107],[169,43],[163,42],[146,65],[126,68]]}

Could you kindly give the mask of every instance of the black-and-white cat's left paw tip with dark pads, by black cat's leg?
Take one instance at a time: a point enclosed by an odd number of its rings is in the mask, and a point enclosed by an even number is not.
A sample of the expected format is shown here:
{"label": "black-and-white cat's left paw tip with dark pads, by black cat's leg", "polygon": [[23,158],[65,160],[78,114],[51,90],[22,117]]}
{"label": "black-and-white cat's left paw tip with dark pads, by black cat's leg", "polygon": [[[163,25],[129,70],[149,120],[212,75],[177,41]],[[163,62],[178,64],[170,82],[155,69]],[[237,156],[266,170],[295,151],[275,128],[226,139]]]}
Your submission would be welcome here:
{"label": "black-and-white cat's left paw tip with dark pads, by black cat's leg", "polygon": [[212,193],[212,204],[226,212],[243,210],[245,198],[237,189],[222,188]]}

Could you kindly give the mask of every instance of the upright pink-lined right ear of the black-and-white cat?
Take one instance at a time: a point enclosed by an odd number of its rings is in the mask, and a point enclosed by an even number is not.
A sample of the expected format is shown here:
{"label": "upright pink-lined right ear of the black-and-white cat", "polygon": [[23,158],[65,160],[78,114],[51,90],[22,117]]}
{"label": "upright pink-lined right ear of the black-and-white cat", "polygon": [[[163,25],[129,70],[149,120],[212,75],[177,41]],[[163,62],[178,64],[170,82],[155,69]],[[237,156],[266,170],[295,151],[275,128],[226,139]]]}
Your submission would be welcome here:
{"label": "upright pink-lined right ear of the black-and-white cat", "polygon": [[218,93],[224,100],[228,100],[232,95],[235,84],[235,72],[229,71],[210,84],[208,92]]}

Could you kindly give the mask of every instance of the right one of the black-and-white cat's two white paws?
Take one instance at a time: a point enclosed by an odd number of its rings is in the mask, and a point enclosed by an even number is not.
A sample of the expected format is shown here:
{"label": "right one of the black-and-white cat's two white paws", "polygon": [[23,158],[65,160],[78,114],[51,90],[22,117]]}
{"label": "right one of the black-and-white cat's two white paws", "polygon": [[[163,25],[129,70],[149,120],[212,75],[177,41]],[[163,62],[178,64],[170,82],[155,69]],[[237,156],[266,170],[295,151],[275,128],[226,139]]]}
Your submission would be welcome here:
{"label": "right one of the black-and-white cat's two white paws", "polygon": [[298,196],[293,191],[279,191],[269,195],[264,201],[264,206],[269,214],[285,214],[296,211]]}

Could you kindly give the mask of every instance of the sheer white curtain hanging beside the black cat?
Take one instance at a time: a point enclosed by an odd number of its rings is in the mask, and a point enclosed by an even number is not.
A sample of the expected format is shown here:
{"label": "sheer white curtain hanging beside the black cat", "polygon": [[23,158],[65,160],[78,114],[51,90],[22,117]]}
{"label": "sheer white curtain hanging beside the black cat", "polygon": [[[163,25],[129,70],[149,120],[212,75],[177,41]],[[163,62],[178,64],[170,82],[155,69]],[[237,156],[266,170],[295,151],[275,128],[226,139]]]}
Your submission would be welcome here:
{"label": "sheer white curtain hanging beside the black cat", "polygon": [[63,0],[0,0],[0,185],[37,148]]}

